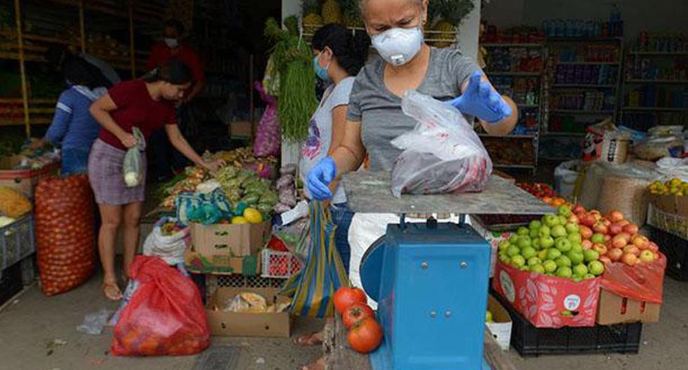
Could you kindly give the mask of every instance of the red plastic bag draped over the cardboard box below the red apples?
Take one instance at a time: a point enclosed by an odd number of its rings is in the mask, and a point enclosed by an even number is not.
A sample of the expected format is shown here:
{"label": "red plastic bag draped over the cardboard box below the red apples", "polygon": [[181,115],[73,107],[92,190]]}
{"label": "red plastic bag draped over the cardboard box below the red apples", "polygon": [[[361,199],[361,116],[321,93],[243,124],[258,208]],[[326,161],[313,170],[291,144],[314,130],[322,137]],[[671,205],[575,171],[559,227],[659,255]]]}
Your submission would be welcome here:
{"label": "red plastic bag draped over the cardboard box below the red apples", "polygon": [[607,263],[602,275],[602,288],[618,296],[635,301],[662,303],[662,287],[666,256],[659,253],[659,259],[651,263]]}

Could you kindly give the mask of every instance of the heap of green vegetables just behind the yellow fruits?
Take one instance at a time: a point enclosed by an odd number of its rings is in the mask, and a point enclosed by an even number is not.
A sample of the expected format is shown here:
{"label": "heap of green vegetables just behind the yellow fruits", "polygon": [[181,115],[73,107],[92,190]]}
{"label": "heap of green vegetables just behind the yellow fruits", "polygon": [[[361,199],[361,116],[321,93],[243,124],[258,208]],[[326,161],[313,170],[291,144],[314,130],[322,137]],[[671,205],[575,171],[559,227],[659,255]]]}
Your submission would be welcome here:
{"label": "heap of green vegetables just behind the yellow fruits", "polygon": [[227,166],[218,171],[216,179],[232,205],[244,203],[265,216],[279,203],[279,196],[270,189],[270,180],[260,179],[251,170]]}

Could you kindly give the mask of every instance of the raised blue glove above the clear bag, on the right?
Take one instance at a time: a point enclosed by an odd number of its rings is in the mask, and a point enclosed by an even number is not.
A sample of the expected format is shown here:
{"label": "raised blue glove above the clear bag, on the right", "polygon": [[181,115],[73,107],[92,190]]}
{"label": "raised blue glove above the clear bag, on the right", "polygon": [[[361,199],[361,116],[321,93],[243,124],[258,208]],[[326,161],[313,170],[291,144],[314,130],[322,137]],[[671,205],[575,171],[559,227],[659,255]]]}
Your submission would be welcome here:
{"label": "raised blue glove above the clear bag, on the right", "polygon": [[475,116],[487,123],[497,123],[511,116],[511,107],[486,81],[480,81],[482,72],[470,76],[468,88],[454,100],[447,102],[463,114]]}

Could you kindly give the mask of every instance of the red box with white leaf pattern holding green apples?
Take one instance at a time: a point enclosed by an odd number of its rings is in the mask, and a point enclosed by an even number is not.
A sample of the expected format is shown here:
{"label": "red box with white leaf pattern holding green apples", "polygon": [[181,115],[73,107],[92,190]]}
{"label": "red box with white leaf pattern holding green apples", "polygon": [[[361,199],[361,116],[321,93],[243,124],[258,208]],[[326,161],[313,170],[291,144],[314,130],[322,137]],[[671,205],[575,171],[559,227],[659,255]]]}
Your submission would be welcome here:
{"label": "red box with white leaf pattern holding green apples", "polygon": [[535,327],[594,327],[600,280],[574,282],[497,261],[492,287]]}

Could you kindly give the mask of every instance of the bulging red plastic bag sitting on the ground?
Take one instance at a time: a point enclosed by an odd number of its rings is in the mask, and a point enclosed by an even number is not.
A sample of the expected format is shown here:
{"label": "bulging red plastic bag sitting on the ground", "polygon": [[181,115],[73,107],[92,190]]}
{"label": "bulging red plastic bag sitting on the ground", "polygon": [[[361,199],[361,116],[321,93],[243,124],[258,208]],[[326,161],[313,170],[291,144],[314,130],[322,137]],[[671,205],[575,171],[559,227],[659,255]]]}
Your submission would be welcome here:
{"label": "bulging red plastic bag sitting on the ground", "polygon": [[130,275],[140,285],[114,327],[113,355],[194,355],[208,348],[210,329],[192,280],[155,256],[136,256]]}

